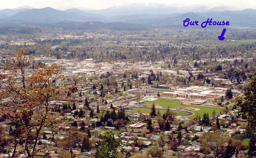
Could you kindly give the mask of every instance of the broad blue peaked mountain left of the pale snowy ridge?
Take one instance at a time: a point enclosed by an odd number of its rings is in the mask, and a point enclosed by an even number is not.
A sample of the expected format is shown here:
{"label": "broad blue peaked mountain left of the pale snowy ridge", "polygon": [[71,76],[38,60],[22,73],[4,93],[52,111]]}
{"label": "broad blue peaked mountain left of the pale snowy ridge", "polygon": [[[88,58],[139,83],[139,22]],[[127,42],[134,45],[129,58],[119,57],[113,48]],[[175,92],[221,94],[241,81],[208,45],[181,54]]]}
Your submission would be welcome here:
{"label": "broad blue peaked mountain left of the pale snowy ridge", "polygon": [[91,17],[91,16],[82,16],[80,14],[72,12],[64,12],[61,10],[56,10],[50,7],[42,9],[31,9],[5,18],[5,20],[13,21],[26,21],[34,23],[57,23],[57,22],[84,22],[84,21],[100,21],[100,18]]}

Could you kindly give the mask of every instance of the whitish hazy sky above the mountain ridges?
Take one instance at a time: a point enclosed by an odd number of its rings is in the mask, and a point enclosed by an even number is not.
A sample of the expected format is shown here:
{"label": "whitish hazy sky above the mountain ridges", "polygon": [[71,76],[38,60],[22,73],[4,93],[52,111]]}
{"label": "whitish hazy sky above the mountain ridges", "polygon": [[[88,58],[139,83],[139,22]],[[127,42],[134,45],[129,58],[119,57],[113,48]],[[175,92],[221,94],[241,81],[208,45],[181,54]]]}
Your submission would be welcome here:
{"label": "whitish hazy sky above the mountain ridges", "polygon": [[56,9],[84,8],[97,10],[110,6],[119,6],[132,3],[158,3],[175,4],[176,6],[189,6],[204,4],[207,6],[229,6],[232,8],[256,8],[255,0],[1,0],[0,9],[32,6],[34,8],[52,7]]}

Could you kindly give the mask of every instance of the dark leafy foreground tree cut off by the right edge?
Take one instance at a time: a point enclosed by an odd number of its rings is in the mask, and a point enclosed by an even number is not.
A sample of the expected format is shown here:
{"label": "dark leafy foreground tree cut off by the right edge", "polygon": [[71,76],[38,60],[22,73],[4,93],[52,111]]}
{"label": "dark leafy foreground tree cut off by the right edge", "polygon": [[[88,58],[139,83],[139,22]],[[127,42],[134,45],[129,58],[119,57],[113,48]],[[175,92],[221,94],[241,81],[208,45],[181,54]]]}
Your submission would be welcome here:
{"label": "dark leafy foreground tree cut off by the right edge", "polygon": [[250,133],[256,129],[256,76],[252,77],[244,95],[244,98],[237,99],[233,109],[237,109],[238,114],[247,119],[247,131]]}

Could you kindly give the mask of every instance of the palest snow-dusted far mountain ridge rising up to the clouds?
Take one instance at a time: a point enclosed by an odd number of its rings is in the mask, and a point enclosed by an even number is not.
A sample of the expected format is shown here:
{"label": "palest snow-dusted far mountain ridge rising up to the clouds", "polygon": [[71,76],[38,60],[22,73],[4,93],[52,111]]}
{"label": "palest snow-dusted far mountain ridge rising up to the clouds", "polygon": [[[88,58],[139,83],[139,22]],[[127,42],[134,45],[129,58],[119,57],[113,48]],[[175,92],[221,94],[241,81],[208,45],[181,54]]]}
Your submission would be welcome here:
{"label": "palest snow-dusted far mountain ridge rising up to the clouds", "polygon": [[205,6],[172,6],[169,4],[156,4],[156,3],[136,3],[124,4],[122,6],[112,6],[103,10],[88,10],[86,12],[102,14],[104,16],[118,16],[118,15],[131,15],[131,14],[173,14],[173,13],[186,13],[191,10],[199,12],[208,9]]}

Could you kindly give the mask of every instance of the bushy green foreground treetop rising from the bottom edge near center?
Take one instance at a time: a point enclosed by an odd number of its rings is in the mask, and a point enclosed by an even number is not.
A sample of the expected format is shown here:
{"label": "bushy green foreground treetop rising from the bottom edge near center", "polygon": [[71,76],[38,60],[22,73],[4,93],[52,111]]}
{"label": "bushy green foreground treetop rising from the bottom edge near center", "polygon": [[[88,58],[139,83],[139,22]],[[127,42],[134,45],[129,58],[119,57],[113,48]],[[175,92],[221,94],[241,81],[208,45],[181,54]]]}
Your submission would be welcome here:
{"label": "bushy green foreground treetop rising from the bottom edge near center", "polygon": [[115,140],[114,134],[106,132],[102,139],[96,142],[96,158],[118,158],[118,151],[123,152],[122,141]]}

